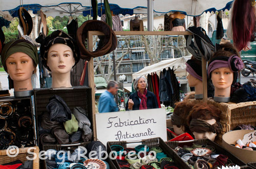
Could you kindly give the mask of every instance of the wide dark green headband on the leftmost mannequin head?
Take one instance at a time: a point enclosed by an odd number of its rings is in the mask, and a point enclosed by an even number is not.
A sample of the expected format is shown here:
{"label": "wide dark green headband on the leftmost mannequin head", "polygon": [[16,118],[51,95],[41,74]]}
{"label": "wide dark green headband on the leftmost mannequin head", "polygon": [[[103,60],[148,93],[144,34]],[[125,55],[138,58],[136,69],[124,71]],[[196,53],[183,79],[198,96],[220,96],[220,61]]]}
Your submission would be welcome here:
{"label": "wide dark green headband on the leftmost mannequin head", "polygon": [[30,58],[35,62],[35,65],[38,64],[38,54],[37,48],[29,41],[24,39],[18,39],[14,41],[10,41],[4,45],[1,55],[1,61],[4,66],[5,71],[7,72],[6,67],[6,60],[10,57],[13,53],[23,52],[29,55]]}

